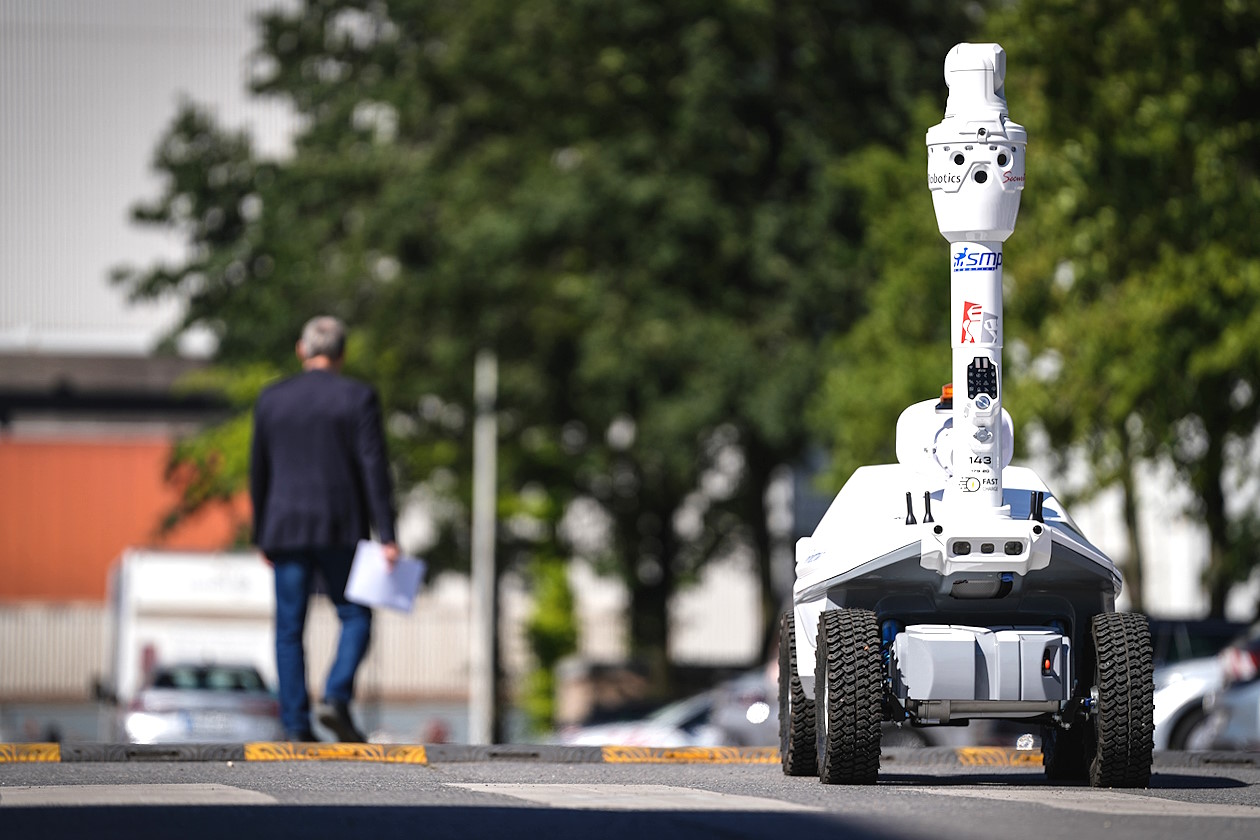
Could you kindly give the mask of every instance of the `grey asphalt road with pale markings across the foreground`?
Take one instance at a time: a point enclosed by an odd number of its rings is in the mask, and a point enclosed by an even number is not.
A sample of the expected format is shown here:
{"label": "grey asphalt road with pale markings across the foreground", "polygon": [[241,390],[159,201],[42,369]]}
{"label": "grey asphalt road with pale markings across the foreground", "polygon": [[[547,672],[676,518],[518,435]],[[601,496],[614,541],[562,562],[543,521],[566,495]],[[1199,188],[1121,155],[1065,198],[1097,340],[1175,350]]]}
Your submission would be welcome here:
{"label": "grey asphalt road with pale markings across the foreground", "polygon": [[949,840],[1260,836],[1260,757],[1157,761],[1150,790],[1048,785],[1040,768],[886,756],[878,785],[772,763],[0,762],[0,835]]}

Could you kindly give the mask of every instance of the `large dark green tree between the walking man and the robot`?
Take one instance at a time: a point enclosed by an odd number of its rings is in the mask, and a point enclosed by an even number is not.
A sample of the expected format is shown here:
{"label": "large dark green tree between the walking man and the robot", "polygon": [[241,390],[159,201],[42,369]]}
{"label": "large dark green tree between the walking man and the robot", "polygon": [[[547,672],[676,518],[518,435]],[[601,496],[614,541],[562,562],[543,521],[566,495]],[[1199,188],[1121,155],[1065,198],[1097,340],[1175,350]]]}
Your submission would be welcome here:
{"label": "large dark green tree between the walking man and the robot", "polygon": [[[185,108],[137,218],[194,258],[122,282],[188,296],[223,364],[281,364],[314,311],[358,325],[401,485],[455,499],[493,349],[503,496],[604,508],[664,683],[668,599],[732,542],[772,623],[765,490],[810,438],[820,343],[863,307],[837,173],[911,131],[964,5],[310,0],[261,19],[255,81],[300,115],[295,155],[260,161]],[[539,521],[503,536],[551,552]]]}

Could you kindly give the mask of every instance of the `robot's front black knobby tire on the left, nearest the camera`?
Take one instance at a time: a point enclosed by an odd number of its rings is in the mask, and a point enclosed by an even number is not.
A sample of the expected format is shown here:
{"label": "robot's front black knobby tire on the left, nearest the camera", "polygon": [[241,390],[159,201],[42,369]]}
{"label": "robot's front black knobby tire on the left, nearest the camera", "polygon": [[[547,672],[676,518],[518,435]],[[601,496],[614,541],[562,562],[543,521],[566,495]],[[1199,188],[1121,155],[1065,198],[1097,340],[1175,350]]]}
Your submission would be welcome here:
{"label": "robot's front black knobby tire on the left, nearest the camera", "polygon": [[883,674],[879,625],[867,610],[829,610],[818,622],[814,670],[818,777],[873,785],[879,775]]}

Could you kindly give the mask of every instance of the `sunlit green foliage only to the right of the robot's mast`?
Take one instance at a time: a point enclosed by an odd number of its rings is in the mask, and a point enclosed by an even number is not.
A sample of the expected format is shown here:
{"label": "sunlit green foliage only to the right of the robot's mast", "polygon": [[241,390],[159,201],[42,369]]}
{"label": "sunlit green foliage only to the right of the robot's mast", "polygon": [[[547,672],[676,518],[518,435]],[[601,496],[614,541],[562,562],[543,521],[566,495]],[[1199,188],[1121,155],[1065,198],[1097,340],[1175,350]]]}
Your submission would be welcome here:
{"label": "sunlit green foliage only to the right of the robot's mast", "polygon": [[1007,89],[1037,103],[1043,160],[1017,314],[1038,327],[1032,358],[1053,364],[1027,393],[1055,443],[1121,482],[1130,524],[1134,466],[1177,468],[1221,616],[1256,562],[1255,504],[1231,496],[1255,477],[1244,452],[1260,426],[1260,9],[1023,3],[993,33],[1019,68]]}

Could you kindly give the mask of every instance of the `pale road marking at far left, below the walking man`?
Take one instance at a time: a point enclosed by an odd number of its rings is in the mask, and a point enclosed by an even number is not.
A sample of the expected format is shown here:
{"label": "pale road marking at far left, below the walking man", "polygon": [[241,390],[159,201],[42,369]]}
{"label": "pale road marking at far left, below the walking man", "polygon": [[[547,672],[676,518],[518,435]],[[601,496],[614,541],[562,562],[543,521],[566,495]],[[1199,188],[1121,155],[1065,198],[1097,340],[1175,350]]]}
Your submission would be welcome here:
{"label": "pale road marking at far left, below the walking man", "polygon": [[231,785],[39,785],[0,787],[0,809],[73,805],[275,805],[266,793]]}

